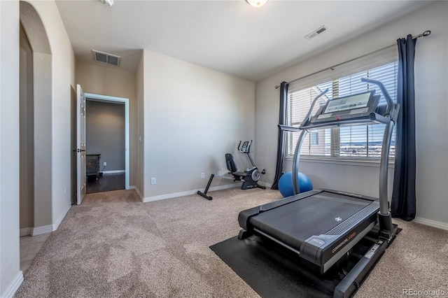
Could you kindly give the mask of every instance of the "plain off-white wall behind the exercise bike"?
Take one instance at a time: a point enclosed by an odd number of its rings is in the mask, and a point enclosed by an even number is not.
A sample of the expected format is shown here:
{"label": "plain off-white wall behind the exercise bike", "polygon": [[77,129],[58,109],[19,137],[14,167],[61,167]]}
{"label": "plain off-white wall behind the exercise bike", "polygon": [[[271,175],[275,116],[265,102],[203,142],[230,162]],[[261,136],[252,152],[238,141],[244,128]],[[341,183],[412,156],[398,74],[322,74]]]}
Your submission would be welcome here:
{"label": "plain off-white wall behind the exercise bike", "polygon": [[[137,136],[144,160],[137,162],[144,177],[137,180],[144,185],[137,187],[144,201],[204,189],[211,173],[227,172],[226,152],[241,168],[248,165],[237,145],[254,140],[255,83],[150,50],[141,63]],[[212,186],[229,183],[216,179]]]}

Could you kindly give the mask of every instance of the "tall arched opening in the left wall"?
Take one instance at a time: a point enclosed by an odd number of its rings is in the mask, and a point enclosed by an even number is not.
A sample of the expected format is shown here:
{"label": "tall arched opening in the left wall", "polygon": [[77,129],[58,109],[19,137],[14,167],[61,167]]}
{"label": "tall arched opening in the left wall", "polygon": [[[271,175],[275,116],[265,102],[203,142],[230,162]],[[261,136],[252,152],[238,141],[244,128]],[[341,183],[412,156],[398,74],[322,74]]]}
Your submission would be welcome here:
{"label": "tall arched opening in the left wall", "polygon": [[[29,150],[32,150],[30,155],[33,158],[27,159],[27,166],[21,167],[20,180],[31,176],[34,185],[26,198],[21,197],[21,204],[25,199],[27,203],[31,201],[34,212],[30,234],[38,235],[52,232],[52,55],[41,17],[25,1],[20,1],[20,23],[32,50],[32,67],[27,68],[27,78],[31,78],[31,82],[23,85],[21,81],[20,92],[27,90],[27,94],[32,93],[29,106],[33,110],[31,128],[26,136],[20,137],[31,143],[32,149]],[[26,154],[30,153],[29,150]],[[21,222],[22,216],[26,214],[21,210]]]}

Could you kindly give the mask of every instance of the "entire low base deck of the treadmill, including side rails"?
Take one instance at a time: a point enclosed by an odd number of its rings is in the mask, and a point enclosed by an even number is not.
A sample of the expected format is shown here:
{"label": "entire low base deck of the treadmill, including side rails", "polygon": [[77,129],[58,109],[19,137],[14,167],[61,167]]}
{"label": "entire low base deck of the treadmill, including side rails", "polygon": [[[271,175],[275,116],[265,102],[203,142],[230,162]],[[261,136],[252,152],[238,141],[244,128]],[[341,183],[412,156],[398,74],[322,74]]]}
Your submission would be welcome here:
{"label": "entire low base deck of the treadmill, including side rails", "polygon": [[370,197],[315,190],[241,211],[252,234],[261,234],[328,270],[372,229],[379,201]]}

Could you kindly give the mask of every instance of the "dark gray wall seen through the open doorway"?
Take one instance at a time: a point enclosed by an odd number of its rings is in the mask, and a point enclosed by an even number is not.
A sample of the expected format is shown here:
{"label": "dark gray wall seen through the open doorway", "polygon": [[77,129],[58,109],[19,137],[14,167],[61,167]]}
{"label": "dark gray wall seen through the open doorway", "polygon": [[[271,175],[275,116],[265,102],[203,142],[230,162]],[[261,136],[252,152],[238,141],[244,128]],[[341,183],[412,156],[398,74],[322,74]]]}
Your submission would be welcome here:
{"label": "dark gray wall seen through the open doorway", "polygon": [[125,105],[87,99],[85,127],[87,154],[101,153],[100,171],[124,171]]}

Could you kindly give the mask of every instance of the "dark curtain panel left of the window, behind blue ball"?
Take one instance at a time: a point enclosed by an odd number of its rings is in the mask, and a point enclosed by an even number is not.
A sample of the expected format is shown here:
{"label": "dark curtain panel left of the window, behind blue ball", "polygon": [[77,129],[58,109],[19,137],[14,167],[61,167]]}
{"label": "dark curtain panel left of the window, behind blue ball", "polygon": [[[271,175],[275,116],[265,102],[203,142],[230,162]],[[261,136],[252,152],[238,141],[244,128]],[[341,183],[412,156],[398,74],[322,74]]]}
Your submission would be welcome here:
{"label": "dark curtain panel left of the window, behind blue ball", "polygon": [[[286,107],[288,100],[288,83],[281,82],[280,84],[280,109],[279,109],[279,125],[286,125]],[[286,132],[279,127],[279,140],[277,141],[277,159],[275,168],[274,183],[272,183],[272,190],[279,189],[279,179],[283,174],[283,160],[285,159],[285,139]]]}

